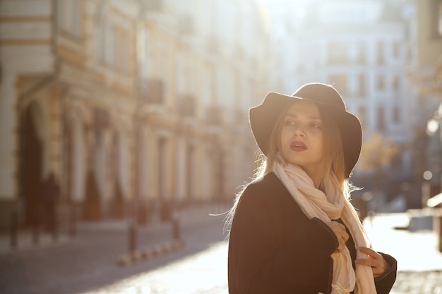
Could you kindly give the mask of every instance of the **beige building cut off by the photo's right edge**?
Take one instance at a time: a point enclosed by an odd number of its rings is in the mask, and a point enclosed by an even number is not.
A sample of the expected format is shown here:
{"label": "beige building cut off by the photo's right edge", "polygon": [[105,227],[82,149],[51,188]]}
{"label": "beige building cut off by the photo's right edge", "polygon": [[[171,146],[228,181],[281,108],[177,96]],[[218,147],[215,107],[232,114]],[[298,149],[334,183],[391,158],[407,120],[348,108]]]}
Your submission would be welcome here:
{"label": "beige building cut off by the photo's right edge", "polygon": [[419,109],[426,109],[420,121],[419,173],[431,171],[431,195],[441,192],[442,148],[442,1],[416,0],[417,44],[409,78],[419,97]]}

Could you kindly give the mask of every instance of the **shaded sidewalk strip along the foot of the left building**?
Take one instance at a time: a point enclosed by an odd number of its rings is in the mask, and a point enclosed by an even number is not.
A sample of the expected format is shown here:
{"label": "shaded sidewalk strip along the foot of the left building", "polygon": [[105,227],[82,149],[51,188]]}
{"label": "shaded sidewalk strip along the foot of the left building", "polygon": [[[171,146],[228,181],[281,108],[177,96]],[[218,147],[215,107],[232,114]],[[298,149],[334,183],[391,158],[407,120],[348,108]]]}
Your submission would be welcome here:
{"label": "shaded sidewalk strip along the foot of the left building", "polygon": [[[179,226],[187,226],[193,223],[201,222],[202,219],[210,217],[211,214],[223,214],[227,212],[229,207],[223,204],[207,204],[195,207],[187,207],[175,212],[174,217],[179,220]],[[80,232],[94,231],[116,231],[126,233],[129,230],[129,219],[106,219],[103,221],[80,221],[76,224],[76,235]],[[161,222],[157,217],[153,217],[152,221],[146,225],[138,225],[136,227],[138,233],[153,233],[158,231],[172,232],[171,221]],[[11,235],[8,233],[0,235],[0,255],[6,255],[10,252],[22,252],[35,250],[44,247],[54,247],[66,244],[75,240],[76,235],[69,235],[67,228],[61,228],[57,238],[51,233],[40,232],[37,244],[33,242],[32,231],[23,229],[18,232],[17,245],[11,247]]]}

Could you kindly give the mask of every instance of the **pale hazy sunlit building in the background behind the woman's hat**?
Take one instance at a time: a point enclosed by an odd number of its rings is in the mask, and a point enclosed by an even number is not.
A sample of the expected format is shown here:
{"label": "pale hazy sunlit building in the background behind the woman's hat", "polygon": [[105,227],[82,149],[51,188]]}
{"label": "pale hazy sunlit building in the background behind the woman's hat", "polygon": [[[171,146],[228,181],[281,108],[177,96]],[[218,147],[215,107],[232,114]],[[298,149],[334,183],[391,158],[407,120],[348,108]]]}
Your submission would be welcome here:
{"label": "pale hazy sunlit building in the background behind the woman's hat", "polygon": [[[284,20],[281,42],[287,43],[280,49],[282,91],[292,93],[311,81],[334,85],[362,121],[363,152],[372,153],[363,153],[352,180],[364,190],[381,186],[392,199],[413,176],[415,134],[410,130],[420,115],[406,74],[416,37],[413,2],[300,3],[297,17],[282,9],[275,16]],[[379,145],[371,146],[376,136]]]}

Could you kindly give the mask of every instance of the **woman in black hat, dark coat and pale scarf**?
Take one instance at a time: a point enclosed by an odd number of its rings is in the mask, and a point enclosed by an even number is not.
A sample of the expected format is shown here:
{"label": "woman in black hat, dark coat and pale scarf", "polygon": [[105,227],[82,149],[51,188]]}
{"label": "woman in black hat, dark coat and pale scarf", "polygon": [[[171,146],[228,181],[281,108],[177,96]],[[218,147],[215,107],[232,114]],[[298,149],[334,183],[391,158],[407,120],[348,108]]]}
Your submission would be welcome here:
{"label": "woman in black hat, dark coat and pale scarf", "polygon": [[263,161],[230,214],[229,293],[389,293],[396,261],[369,248],[349,202],[362,128],[340,94],[270,92],[250,124]]}

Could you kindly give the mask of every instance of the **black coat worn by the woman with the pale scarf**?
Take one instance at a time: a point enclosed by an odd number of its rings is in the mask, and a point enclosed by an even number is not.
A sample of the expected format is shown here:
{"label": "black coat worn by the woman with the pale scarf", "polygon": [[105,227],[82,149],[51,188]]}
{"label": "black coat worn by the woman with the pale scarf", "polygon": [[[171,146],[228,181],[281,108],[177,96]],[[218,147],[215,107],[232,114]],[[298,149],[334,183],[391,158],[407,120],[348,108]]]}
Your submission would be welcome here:
{"label": "black coat worn by the woman with the pale scarf", "polygon": [[[350,235],[350,233],[349,233]],[[352,259],[356,249],[347,241]],[[229,236],[229,293],[330,293],[338,239],[320,219],[308,219],[274,173],[243,192]],[[396,261],[375,279],[378,294],[389,293]]]}

